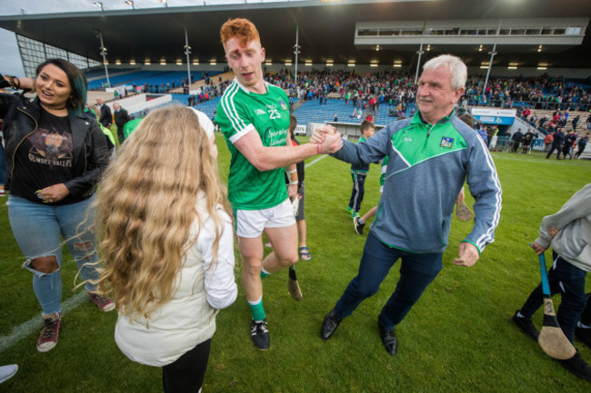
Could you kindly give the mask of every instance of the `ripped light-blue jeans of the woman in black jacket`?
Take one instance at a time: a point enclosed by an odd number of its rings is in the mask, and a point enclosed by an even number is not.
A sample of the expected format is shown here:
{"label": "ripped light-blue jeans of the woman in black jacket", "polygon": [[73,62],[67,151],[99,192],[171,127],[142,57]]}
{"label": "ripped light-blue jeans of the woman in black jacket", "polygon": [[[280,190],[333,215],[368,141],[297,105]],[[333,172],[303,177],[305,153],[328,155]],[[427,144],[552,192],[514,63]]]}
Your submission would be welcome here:
{"label": "ripped light-blue jeans of the woman in black jacket", "polygon": [[[93,200],[94,197],[68,205],[50,206],[10,195],[10,227],[25,254],[23,267],[33,273],[33,290],[44,315],[62,311],[62,237],[78,265],[80,278],[98,279],[95,233],[88,230],[93,225],[94,215],[91,213],[86,217],[86,210]],[[32,260],[49,256],[55,256],[57,270],[44,273],[33,269]],[[95,286],[86,282],[85,289],[93,291]]]}

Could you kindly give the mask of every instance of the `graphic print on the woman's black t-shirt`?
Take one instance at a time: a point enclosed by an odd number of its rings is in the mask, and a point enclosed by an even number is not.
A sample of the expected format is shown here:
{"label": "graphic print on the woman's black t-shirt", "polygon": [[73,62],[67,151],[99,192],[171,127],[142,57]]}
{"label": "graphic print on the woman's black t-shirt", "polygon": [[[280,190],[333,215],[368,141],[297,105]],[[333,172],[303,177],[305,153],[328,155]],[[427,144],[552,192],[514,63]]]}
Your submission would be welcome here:
{"label": "graphic print on the woman's black t-shirt", "polygon": [[65,168],[72,167],[72,134],[50,132],[45,128],[39,128],[33,135],[27,138],[31,142],[29,161]]}

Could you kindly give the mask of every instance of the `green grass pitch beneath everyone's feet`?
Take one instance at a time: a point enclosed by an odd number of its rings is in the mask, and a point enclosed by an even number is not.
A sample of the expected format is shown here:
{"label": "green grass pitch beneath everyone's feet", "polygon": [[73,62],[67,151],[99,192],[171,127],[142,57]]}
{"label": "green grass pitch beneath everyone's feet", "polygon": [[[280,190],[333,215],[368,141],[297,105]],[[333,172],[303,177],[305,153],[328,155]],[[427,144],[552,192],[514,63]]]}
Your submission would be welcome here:
{"label": "green grass pitch beneath everyone's feet", "polygon": [[[226,178],[229,153],[223,138],[217,142]],[[326,157],[309,166],[306,222],[312,260],[296,265],[304,300],[289,296],[286,270],[267,277],[271,349],[255,349],[236,252],[239,295],[217,317],[203,391],[588,391],[588,382],[548,358],[509,319],[539,282],[537,258],[528,243],[536,239],[542,218],[589,182],[591,162],[545,160],[541,152],[496,152],[493,157],[503,186],[496,241],[473,268],[454,266],[459,241],[472,227],[454,219],[444,270],[396,327],[394,357],[382,347],[376,319],[395,289],[398,263],[379,292],[344,320],[331,339],[320,339],[322,319],[356,275],[366,235],[356,235],[345,211],[352,187],[349,165]],[[378,176],[378,166],[372,165],[362,211],[379,198]],[[24,257],[4,202],[0,199],[0,364],[18,363],[20,369],[0,385],[0,392],[161,392],[159,368],[135,364],[117,349],[115,312],[104,313],[87,302],[67,312],[58,345],[45,354],[35,349],[39,329],[28,334],[17,329],[30,319],[38,319],[40,326],[40,308],[31,274],[20,268]],[[466,202],[473,202],[469,192]],[[75,263],[68,256],[62,275],[66,300],[75,296]],[[559,297],[555,302],[560,303]],[[541,319],[540,310],[534,319],[538,327]],[[22,339],[6,346],[7,337]],[[591,362],[591,349],[580,342],[576,346]]]}

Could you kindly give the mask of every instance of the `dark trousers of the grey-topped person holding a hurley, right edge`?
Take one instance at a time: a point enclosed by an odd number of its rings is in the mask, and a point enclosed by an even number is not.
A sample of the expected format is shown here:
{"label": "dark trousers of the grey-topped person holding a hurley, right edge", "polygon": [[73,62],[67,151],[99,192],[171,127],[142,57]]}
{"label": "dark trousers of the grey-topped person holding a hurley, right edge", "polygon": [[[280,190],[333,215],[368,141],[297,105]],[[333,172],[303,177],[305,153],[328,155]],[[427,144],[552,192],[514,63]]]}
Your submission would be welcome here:
{"label": "dark trousers of the grey-topped person holding a hurley, right edge", "polygon": [[[548,271],[550,293],[552,295],[560,293],[562,297],[560,307],[556,312],[556,319],[558,319],[558,324],[565,333],[566,339],[573,342],[576,322],[586,307],[586,271],[563,260],[556,252],[552,252],[552,255],[554,264]],[[543,303],[544,294],[542,293],[542,284],[540,284],[532,291],[526,304],[519,311],[524,317],[531,318]]]}

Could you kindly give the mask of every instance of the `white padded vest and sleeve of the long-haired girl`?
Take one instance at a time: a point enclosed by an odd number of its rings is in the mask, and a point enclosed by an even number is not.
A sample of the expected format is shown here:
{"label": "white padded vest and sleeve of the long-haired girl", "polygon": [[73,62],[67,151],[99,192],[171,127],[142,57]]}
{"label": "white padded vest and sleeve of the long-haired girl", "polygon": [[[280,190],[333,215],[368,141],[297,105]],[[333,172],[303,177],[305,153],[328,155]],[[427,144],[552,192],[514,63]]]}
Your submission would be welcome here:
{"label": "white padded vest and sleeve of the long-haired girl", "polygon": [[[205,212],[205,198],[199,198],[191,235],[197,240],[186,254],[175,283],[173,299],[152,313],[149,320],[130,321],[119,314],[115,342],[121,351],[138,363],[162,367],[174,362],[215,333],[218,309],[231,305],[238,290],[234,278],[234,232],[232,221],[222,209],[217,213],[224,222],[219,241],[217,263],[212,263],[215,239],[214,221]],[[198,234],[197,234],[198,231]]]}

